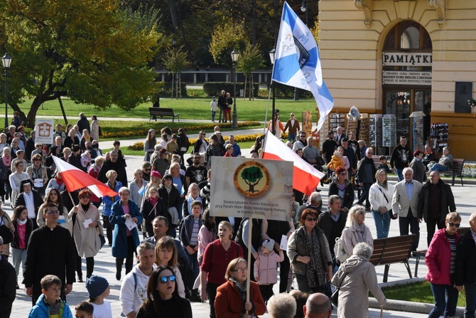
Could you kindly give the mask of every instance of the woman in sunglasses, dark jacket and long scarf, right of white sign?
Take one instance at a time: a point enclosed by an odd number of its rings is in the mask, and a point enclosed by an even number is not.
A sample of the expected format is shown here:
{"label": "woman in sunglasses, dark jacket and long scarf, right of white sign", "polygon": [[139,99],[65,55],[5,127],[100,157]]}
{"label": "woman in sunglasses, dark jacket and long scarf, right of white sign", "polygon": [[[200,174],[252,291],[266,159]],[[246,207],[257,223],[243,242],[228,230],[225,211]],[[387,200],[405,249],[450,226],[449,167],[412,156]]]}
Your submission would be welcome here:
{"label": "woman in sunglasses, dark jacket and long scarf, right of white sign", "polygon": [[318,213],[306,208],[301,227],[288,240],[288,257],[301,292],[325,293],[332,278],[332,256],[323,230],[318,228]]}

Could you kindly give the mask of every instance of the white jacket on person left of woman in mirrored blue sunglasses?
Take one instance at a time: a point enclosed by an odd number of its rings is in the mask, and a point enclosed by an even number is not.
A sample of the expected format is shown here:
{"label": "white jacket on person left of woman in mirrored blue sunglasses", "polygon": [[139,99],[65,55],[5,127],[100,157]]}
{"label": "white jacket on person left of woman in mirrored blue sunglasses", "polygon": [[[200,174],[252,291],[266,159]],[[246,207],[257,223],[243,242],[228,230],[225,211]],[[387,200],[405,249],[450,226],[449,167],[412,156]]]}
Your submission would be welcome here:
{"label": "white jacket on person left of woman in mirrored blue sunglasses", "polygon": [[[156,265],[153,265],[154,269]],[[136,274],[136,280],[134,280]],[[148,276],[139,270],[139,264],[135,265],[131,272],[124,277],[121,284],[119,300],[121,301],[121,312],[126,316],[130,312],[136,312],[141,304],[147,299]],[[134,290],[134,286],[136,287]]]}

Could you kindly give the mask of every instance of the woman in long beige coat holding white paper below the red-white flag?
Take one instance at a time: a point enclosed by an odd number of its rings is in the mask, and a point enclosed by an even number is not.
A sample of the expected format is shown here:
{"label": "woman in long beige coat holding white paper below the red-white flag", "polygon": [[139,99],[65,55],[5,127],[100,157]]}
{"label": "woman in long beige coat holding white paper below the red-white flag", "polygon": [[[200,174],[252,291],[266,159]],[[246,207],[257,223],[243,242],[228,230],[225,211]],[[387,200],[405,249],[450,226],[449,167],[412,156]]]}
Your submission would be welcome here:
{"label": "woman in long beige coat holding white paper below the red-white flag", "polygon": [[77,281],[82,282],[81,258],[86,258],[86,278],[90,278],[94,270],[94,256],[101,249],[102,235],[101,222],[99,222],[99,212],[90,201],[90,191],[81,190],[78,194],[80,204],[72,208],[70,218],[72,219],[72,238],[76,246],[76,272]]}

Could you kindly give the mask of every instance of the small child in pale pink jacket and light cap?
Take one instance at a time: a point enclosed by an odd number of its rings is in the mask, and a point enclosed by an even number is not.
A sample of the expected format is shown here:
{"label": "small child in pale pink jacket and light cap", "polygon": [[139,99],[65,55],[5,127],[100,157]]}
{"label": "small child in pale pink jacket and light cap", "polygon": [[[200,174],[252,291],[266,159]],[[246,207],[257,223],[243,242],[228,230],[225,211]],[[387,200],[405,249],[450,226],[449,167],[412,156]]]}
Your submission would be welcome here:
{"label": "small child in pale pink jacket and light cap", "polygon": [[274,240],[264,240],[258,254],[259,260],[254,262],[254,278],[266,303],[273,296],[273,285],[278,282],[278,263],[284,260],[284,254],[282,250],[279,250],[279,255],[274,253]]}

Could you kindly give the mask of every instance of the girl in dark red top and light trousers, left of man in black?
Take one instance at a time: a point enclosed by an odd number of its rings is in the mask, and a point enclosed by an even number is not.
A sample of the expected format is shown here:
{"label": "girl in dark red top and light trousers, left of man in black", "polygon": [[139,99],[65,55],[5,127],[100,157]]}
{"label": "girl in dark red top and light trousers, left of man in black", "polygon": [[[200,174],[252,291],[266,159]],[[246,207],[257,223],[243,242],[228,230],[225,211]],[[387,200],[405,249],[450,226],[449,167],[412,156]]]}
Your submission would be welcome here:
{"label": "girl in dark red top and light trousers, left of man in black", "polygon": [[[25,272],[26,248],[33,230],[33,221],[28,218],[26,206],[17,206],[15,211],[13,211],[11,221],[15,227],[13,241],[11,242],[11,254],[13,255],[13,266],[15,267],[16,279],[18,281],[20,264],[22,264],[23,272]],[[16,283],[16,289],[18,289],[18,282]]]}

